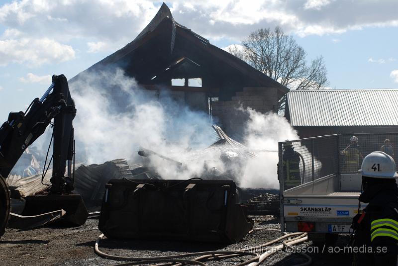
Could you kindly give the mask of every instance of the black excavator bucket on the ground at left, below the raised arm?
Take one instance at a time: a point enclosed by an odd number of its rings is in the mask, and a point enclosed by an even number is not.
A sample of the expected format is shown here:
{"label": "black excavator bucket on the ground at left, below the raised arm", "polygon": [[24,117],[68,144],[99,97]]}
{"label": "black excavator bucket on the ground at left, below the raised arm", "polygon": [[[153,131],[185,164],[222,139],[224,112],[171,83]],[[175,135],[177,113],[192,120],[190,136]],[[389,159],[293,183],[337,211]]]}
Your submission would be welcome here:
{"label": "black excavator bucket on the ground at left, below the raised arm", "polygon": [[34,216],[58,210],[66,212],[60,221],[71,226],[83,225],[89,216],[83,198],[79,194],[27,196],[21,215]]}

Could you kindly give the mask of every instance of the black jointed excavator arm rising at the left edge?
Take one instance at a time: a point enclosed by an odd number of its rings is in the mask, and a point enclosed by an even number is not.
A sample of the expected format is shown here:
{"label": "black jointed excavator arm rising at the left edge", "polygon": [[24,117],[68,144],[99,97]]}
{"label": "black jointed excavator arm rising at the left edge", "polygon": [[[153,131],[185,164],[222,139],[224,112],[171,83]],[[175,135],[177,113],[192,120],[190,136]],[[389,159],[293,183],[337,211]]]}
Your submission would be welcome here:
{"label": "black jointed excavator arm rising at the left edge", "polygon": [[[9,192],[3,179],[9,175],[26,148],[44,133],[52,120],[54,144],[50,195],[69,194],[74,189],[71,165],[74,156],[72,121],[75,116],[75,103],[71,97],[66,77],[54,75],[51,86],[41,98],[35,98],[25,112],[9,113],[7,121],[1,125],[0,236],[3,231],[1,224],[4,224],[3,218],[6,220],[9,215],[6,213],[7,208],[9,212],[9,207],[7,207]],[[66,168],[67,162],[68,168]],[[68,169],[67,176],[65,176],[66,169]],[[78,196],[80,197],[80,195]],[[42,197],[39,201],[42,201]],[[25,206],[26,208],[27,206]],[[62,208],[66,209],[66,207]]]}

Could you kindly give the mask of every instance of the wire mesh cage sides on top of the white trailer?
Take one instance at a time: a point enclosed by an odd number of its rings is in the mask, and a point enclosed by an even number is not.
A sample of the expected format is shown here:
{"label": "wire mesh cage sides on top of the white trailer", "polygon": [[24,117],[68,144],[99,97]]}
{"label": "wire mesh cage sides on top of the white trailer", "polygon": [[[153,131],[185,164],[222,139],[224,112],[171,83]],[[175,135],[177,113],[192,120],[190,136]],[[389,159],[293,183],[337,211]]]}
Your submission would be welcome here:
{"label": "wire mesh cage sides on top of the white trailer", "polygon": [[[355,136],[356,138],[352,138]],[[398,134],[339,134],[280,142],[279,178],[284,190],[321,177],[355,174],[365,156],[383,151],[398,162]]]}

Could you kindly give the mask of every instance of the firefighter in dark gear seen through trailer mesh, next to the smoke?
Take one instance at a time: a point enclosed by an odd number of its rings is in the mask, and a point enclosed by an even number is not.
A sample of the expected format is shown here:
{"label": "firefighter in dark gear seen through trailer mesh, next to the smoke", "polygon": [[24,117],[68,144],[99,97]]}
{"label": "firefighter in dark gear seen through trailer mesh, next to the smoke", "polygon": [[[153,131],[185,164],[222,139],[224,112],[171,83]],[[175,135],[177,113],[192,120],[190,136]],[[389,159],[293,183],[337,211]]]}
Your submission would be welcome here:
{"label": "firefighter in dark gear seen through trailer mesh, next to the smoke", "polygon": [[300,155],[294,150],[292,144],[284,146],[283,167],[285,189],[289,189],[301,184],[300,176]]}

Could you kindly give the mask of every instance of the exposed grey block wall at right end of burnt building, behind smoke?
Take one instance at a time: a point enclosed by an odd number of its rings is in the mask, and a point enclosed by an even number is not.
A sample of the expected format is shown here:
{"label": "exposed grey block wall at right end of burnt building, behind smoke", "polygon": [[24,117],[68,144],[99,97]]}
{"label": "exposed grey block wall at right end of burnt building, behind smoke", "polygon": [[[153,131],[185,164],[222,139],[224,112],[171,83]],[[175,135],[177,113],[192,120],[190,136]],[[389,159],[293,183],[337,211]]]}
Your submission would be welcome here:
{"label": "exposed grey block wall at right end of burnt building, behind smoke", "polygon": [[275,111],[278,103],[278,89],[273,87],[246,87],[236,92],[230,101],[212,102],[212,115],[217,117],[227,134],[240,139],[247,114],[239,111],[250,107],[258,112]]}

